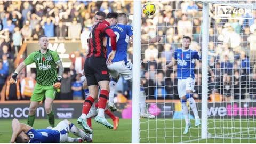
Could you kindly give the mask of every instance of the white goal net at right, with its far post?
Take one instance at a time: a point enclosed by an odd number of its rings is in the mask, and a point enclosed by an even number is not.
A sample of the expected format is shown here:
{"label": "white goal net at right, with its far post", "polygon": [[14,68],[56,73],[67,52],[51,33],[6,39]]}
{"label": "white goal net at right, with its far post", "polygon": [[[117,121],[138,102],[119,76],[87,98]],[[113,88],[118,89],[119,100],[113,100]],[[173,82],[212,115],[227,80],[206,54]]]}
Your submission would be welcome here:
{"label": "white goal net at right, with its far post", "polygon": [[[161,36],[162,40],[141,45],[141,79],[148,113],[156,118],[140,119],[140,142],[256,142],[256,11],[252,1],[151,3],[157,11],[151,17],[142,13],[141,37]],[[187,134],[183,134],[186,124],[178,93],[177,65],[182,61],[171,63],[183,36],[191,37],[190,49],[203,58],[191,61],[195,64],[191,95],[201,125],[195,126],[187,101],[191,123]]]}

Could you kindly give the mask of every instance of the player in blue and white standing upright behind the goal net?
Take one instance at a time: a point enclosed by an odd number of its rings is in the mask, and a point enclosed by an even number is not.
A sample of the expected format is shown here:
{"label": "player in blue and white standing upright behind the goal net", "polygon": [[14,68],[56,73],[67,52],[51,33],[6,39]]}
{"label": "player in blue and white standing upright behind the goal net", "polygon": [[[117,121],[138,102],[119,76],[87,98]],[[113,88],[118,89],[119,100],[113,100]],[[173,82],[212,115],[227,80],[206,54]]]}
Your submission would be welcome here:
{"label": "player in blue and white standing upright behind the goal net", "polygon": [[173,62],[177,62],[178,93],[181,99],[182,114],[185,117],[186,122],[185,131],[183,132],[184,134],[188,133],[191,126],[188,118],[188,107],[186,105],[187,100],[189,101],[189,106],[195,115],[195,126],[199,126],[201,124],[196,103],[193,98],[193,92],[195,92],[195,60],[201,59],[201,55],[199,52],[189,48],[190,43],[190,37],[183,37],[182,47],[174,51],[175,61],[172,61],[167,65],[173,66]]}

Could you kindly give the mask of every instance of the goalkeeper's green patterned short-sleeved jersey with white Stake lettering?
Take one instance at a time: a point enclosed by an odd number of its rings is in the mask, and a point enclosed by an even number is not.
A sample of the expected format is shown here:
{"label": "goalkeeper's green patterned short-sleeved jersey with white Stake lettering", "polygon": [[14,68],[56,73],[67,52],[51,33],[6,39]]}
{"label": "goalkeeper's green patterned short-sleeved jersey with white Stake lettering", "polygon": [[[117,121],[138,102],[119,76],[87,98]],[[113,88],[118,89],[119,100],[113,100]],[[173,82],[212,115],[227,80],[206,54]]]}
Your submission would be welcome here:
{"label": "goalkeeper's green patterned short-sleeved jersey with white Stake lettering", "polygon": [[45,54],[39,51],[35,51],[28,55],[24,60],[25,65],[36,63],[36,81],[40,85],[51,86],[54,84],[57,78],[57,63],[59,63],[60,57],[57,52],[47,50]]}

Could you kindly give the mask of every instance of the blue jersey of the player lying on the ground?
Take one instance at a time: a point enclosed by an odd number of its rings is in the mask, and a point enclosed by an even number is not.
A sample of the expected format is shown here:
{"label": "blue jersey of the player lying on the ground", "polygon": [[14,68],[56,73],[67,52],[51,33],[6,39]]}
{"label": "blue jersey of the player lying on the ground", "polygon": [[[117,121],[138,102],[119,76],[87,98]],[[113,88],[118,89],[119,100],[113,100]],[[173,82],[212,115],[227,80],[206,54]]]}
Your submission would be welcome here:
{"label": "blue jersey of the player lying on the ground", "polygon": [[52,129],[30,129],[28,143],[60,143],[60,132]]}

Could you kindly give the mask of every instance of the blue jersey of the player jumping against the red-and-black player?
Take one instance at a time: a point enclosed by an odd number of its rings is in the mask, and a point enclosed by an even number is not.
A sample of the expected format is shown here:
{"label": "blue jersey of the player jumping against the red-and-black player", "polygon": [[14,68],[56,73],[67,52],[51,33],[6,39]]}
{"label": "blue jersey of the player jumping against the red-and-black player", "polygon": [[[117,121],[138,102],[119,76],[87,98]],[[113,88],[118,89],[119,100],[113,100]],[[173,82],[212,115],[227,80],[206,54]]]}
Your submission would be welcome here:
{"label": "blue jersey of the player jumping against the red-and-black player", "polygon": [[[127,63],[127,46],[129,43],[129,38],[133,35],[133,28],[130,25],[124,25],[117,23],[114,26],[110,27],[116,34],[116,55],[113,62],[125,61]],[[107,57],[112,51],[110,38],[108,37],[107,41]]]}

